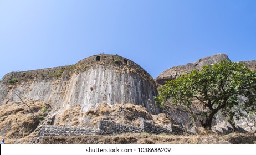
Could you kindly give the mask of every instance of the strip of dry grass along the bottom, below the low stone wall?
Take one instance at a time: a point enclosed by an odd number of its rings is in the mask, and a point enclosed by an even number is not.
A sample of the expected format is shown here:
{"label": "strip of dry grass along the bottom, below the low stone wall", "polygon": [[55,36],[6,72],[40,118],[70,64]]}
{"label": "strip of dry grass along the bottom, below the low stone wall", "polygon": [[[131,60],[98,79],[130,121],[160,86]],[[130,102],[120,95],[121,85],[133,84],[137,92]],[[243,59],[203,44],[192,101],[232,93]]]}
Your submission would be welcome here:
{"label": "strip of dry grass along the bottom, below the low stone wall", "polygon": [[[244,138],[244,143],[256,143],[256,136],[242,134],[240,137]],[[234,135],[222,137],[218,135],[209,136],[175,136],[175,135],[150,135],[147,133],[126,133],[114,136],[57,136],[57,137],[44,137],[40,143],[72,143],[72,144],[199,144],[199,143],[233,143],[229,139],[239,139]]]}

